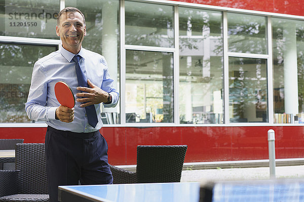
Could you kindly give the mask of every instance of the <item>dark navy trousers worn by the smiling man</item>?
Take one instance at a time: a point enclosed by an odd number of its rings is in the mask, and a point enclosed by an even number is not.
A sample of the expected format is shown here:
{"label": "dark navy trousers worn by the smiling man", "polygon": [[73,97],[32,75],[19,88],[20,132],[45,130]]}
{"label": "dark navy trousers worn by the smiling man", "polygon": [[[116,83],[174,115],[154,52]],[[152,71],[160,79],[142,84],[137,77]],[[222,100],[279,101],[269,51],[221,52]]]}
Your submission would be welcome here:
{"label": "dark navy trousers worn by the smiling man", "polygon": [[50,201],[58,201],[58,186],[112,184],[107,142],[99,131],[74,133],[48,126],[46,160]]}

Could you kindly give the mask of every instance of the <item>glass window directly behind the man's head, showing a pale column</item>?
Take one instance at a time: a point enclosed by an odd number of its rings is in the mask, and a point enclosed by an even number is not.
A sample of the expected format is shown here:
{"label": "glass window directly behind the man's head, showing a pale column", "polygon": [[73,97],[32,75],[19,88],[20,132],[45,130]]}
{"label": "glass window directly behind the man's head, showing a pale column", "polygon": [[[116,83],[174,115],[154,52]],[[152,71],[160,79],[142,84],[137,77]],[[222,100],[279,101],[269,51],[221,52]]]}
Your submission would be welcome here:
{"label": "glass window directly behind the man's head, showing a pale column", "polygon": [[[120,30],[118,0],[66,0],[66,7],[78,8],[85,16],[87,35],[83,47],[104,56],[114,86],[120,86]],[[101,116],[104,124],[120,123],[120,106],[104,108],[101,105]]]}

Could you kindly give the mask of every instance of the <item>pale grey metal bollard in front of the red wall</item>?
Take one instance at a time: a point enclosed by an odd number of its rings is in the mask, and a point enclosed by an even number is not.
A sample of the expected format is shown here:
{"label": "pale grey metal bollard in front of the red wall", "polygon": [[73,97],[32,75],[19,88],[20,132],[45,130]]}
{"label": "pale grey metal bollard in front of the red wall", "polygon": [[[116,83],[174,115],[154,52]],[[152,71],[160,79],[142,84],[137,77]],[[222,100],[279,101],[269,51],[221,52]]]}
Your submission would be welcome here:
{"label": "pale grey metal bollard in front of the red wall", "polygon": [[268,150],[270,178],[276,178],[275,131],[273,129],[268,130]]}

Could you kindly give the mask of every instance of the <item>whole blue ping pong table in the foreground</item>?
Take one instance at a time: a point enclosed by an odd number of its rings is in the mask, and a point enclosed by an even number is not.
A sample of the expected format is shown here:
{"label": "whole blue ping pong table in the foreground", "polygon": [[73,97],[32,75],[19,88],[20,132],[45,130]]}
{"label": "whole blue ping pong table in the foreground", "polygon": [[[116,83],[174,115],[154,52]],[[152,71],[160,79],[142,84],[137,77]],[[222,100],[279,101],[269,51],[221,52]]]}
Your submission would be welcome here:
{"label": "whole blue ping pong table in the foreground", "polygon": [[59,186],[58,195],[61,202],[301,202],[304,179]]}

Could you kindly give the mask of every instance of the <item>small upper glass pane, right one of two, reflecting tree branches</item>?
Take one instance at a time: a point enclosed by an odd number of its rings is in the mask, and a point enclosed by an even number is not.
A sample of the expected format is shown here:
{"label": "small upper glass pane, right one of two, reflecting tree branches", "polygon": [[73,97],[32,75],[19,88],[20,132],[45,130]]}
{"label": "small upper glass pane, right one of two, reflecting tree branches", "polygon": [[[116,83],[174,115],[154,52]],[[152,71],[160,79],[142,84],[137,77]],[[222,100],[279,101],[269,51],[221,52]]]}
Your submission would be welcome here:
{"label": "small upper glass pane, right one of two, reflecting tree branches", "polygon": [[267,20],[264,16],[227,13],[229,52],[267,54]]}

